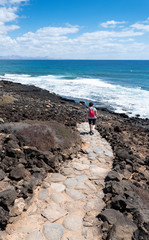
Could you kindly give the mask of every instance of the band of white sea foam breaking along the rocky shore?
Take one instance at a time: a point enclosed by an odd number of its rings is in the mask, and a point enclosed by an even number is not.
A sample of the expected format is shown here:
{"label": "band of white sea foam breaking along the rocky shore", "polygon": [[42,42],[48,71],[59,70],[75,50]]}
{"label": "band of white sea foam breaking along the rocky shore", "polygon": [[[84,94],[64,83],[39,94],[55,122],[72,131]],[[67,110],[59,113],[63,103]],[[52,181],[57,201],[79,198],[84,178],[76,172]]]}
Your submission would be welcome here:
{"label": "band of white sea foam breaking along the rocky shore", "polygon": [[118,113],[126,113],[129,116],[139,114],[142,118],[149,118],[149,91],[140,88],[112,85],[94,78],[65,79],[64,76],[32,77],[23,74],[5,74],[1,77],[13,82],[32,84],[68,98],[102,103]]}

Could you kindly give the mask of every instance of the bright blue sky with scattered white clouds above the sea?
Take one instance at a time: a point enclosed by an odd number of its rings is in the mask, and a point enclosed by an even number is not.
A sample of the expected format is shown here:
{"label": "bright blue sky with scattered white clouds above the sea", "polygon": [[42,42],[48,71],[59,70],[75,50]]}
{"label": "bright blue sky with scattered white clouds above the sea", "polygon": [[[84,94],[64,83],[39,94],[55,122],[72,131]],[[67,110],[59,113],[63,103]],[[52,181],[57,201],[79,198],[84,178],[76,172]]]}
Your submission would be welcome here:
{"label": "bright blue sky with scattered white clouds above the sea", "polygon": [[0,59],[149,60],[149,0],[0,0]]}

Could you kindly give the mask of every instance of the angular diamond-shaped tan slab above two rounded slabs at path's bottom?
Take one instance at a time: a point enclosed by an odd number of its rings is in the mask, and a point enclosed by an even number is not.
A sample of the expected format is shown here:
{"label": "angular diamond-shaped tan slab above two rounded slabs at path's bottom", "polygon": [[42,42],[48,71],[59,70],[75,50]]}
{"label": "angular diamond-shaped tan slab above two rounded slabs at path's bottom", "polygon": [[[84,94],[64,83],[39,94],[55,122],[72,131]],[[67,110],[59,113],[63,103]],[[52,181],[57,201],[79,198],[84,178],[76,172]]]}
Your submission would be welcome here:
{"label": "angular diamond-shaped tan slab above two rounded slabs at path's bottom", "polygon": [[47,218],[50,222],[54,222],[67,214],[58,204],[49,204],[42,212],[42,216]]}

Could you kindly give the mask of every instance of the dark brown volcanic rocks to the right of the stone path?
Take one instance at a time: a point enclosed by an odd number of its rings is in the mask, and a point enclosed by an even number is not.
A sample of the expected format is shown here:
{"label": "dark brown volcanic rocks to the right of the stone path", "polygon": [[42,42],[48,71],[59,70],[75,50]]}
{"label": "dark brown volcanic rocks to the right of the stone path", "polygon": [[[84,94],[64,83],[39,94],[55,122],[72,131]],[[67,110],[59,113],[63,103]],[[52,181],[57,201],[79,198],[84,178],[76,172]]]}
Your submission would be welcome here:
{"label": "dark brown volcanic rocks to the right of the stone path", "polygon": [[[103,109],[104,110],[104,109]],[[125,114],[100,111],[97,129],[114,151],[113,171],[105,179],[106,209],[99,217],[105,239],[122,231],[123,225],[137,226],[132,239],[149,239],[149,119],[128,118]],[[123,226],[123,227],[124,227]],[[133,227],[133,224],[132,224]]]}

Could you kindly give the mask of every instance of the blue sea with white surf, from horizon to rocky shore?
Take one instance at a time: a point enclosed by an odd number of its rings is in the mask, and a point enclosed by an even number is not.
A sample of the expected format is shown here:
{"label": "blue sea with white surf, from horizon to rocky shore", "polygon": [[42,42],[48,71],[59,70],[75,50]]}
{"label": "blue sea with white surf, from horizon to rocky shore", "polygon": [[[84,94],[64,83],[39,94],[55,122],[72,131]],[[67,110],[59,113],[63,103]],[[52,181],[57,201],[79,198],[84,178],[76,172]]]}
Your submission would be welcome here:
{"label": "blue sea with white surf, from horizon to rocky shore", "polygon": [[148,60],[0,60],[0,78],[149,118]]}

